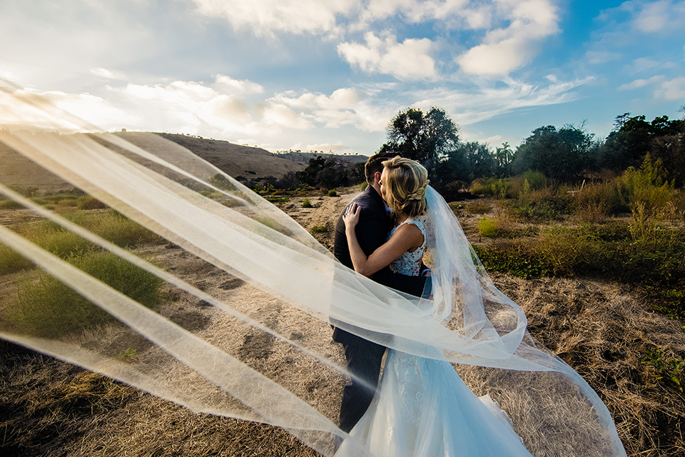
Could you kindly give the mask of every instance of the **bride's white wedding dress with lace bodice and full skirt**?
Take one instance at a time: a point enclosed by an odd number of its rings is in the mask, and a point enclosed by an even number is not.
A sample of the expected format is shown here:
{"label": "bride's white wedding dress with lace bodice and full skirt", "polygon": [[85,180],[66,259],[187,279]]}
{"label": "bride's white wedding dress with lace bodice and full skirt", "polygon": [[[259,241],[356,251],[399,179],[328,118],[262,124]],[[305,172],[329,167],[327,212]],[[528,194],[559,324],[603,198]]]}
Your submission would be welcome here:
{"label": "bride's white wedding dress with lace bodice and full skirt", "polygon": [[[415,224],[424,243],[390,268],[417,276],[427,246],[425,224],[421,218],[402,224]],[[531,457],[497,403],[475,396],[449,362],[393,349],[387,351],[376,395],[350,437],[379,457]],[[336,456],[355,454],[352,449],[345,441]]]}

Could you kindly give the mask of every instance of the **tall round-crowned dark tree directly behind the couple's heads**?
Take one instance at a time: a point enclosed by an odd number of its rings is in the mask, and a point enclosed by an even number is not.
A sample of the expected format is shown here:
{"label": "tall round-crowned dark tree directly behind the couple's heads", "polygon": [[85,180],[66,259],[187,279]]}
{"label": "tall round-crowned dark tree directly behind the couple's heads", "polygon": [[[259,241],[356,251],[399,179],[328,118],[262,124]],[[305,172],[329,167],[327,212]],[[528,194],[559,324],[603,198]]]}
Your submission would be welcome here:
{"label": "tall round-crowned dark tree directly behind the couple's heads", "polygon": [[380,152],[397,151],[407,159],[419,161],[429,174],[459,142],[459,126],[445,110],[435,106],[427,113],[417,108],[400,111],[386,133],[388,141]]}

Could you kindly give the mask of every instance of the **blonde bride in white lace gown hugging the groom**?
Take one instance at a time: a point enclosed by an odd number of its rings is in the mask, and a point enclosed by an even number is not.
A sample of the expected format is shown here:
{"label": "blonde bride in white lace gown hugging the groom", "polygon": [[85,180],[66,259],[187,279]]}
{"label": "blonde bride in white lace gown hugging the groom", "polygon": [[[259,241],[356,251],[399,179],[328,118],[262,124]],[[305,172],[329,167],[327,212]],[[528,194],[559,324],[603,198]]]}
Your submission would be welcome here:
{"label": "blonde bride in white lace gown hugging the groom", "polygon": [[[355,271],[369,276],[390,265],[418,276],[427,248],[427,171],[395,157],[383,163],[380,190],[395,210],[388,241],[366,256],[355,226],[360,206],[342,216]],[[380,387],[350,436],[375,456],[530,456],[507,416],[488,396],[477,398],[447,361],[387,351]],[[338,455],[348,452],[345,443]]]}

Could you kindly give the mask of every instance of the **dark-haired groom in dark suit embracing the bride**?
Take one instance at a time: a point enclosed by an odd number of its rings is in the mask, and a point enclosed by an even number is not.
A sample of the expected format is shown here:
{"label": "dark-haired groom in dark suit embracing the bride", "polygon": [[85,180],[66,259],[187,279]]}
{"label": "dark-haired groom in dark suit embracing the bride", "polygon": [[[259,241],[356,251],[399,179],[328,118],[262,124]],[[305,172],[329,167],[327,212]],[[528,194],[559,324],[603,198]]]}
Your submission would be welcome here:
{"label": "dark-haired groom in dark suit embracing the bride", "polygon": [[[396,153],[382,153],[371,156],[364,169],[369,185],[365,191],[350,202],[350,205],[356,203],[362,208],[356,233],[357,241],[367,256],[387,241],[387,233],[392,226],[386,210],[387,207],[380,194],[380,175],[383,171],[383,162],[397,155]],[[342,211],[342,214],[345,214],[345,210]],[[342,214],[340,214],[338,224],[335,226],[333,254],[343,265],[353,269]],[[392,273],[388,266],[369,277],[384,286],[415,296],[422,295],[427,281],[427,278],[423,276]],[[337,327],[333,328],[333,341],[341,343],[345,348],[347,371],[367,384],[365,386],[357,378],[352,377],[342,391],[340,428],[342,431],[349,432],[371,404],[375,388],[378,385],[380,363],[383,353],[385,353],[385,346],[367,341]],[[368,386],[373,386],[373,388]]]}

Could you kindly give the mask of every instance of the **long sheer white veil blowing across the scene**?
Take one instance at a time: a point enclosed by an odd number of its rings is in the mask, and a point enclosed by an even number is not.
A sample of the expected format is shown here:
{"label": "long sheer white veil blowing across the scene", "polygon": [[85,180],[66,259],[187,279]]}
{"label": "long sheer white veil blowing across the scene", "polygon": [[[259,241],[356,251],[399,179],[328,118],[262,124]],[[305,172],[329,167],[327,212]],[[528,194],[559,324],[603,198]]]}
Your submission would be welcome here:
{"label": "long sheer white veil blowing across the scene", "polygon": [[[330,456],[333,437],[347,434],[323,408],[327,399],[303,386],[302,376],[328,386],[349,376],[330,355],[328,322],[335,319],[384,346],[460,364],[460,373],[499,401],[535,456],[626,455],[604,403],[529,336],[521,308],[493,285],[435,190],[427,192],[433,295],[419,299],[345,268],[283,211],[181,146],[151,134],[96,133],[11,84],[0,89],[1,167],[14,170],[0,174],[0,194],[32,211],[35,224],[52,224],[211,310],[207,325],[184,328],[162,308],[108,286],[25,232],[0,226],[0,263],[7,275],[30,282],[27,272],[36,266],[109,316],[101,327],[59,335],[3,317],[2,338],[193,411],[283,427]],[[92,227],[21,195],[8,176],[33,169],[165,238],[207,274],[243,281],[263,306],[246,306],[230,291],[205,291],[146,253],[107,241]],[[146,341],[140,345],[145,349],[133,361],[117,357],[98,344],[98,332],[131,333]],[[236,341],[245,334],[278,346],[278,358],[268,364],[245,356]]]}

